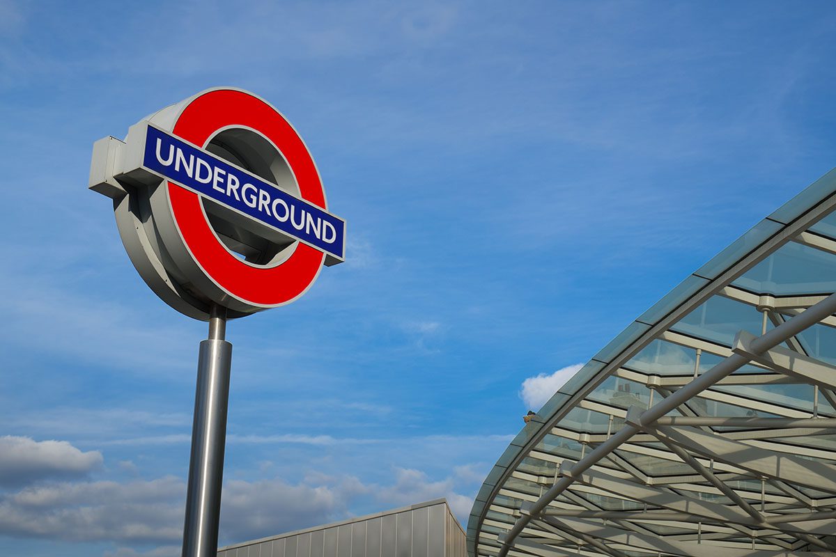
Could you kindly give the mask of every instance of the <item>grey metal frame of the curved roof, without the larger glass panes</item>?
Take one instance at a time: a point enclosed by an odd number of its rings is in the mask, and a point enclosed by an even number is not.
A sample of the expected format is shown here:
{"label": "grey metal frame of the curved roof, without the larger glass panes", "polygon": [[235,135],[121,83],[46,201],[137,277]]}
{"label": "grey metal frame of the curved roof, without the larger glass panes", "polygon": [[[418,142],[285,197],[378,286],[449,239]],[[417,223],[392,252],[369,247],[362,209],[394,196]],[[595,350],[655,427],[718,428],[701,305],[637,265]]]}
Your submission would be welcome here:
{"label": "grey metal frame of the curved roof, without the larger glass panes", "polygon": [[[836,327],[836,294],[773,296],[732,285],[790,241],[836,254],[836,241],[808,231],[836,207],[834,191],[836,173],[831,172],[800,195],[800,201],[770,215],[761,227],[768,234],[757,232],[757,241],[745,250],[733,245],[734,256],[718,256],[722,266],[712,261],[697,271],[691,277],[695,287],[673,301],[670,296],[663,299],[658,305],[662,310],[651,308],[596,355],[573,386],[556,393],[512,442],[477,496],[468,525],[473,556],[836,553],[836,450],[832,444],[799,441],[822,438],[830,443],[836,438],[836,414],[818,411],[824,402],[836,408],[836,367],[808,355],[798,340],[817,324]],[[670,330],[712,296],[757,308],[762,334],[740,331],[730,349]],[[769,324],[774,328],[767,331]],[[655,339],[696,350],[694,376],[665,377],[624,367]],[[700,372],[701,353],[723,359]],[[763,372],[732,375],[743,366]],[[608,377],[645,384],[650,408],[623,411],[590,400],[587,395]],[[744,400],[728,391],[733,386],[791,383],[815,389],[812,413],[776,410],[769,400]],[[689,405],[697,397],[775,417],[703,416]],[[562,418],[579,408],[609,414],[607,433],[564,428]],[[670,412],[677,415],[666,415]],[[612,431],[614,418],[618,431]],[[539,448],[549,433],[580,443],[580,458]],[[650,476],[625,454],[664,459],[691,472]],[[527,472],[521,468],[527,458],[541,466],[553,463],[553,475]],[[760,493],[753,487],[757,484]],[[635,507],[599,509],[589,497],[615,498]]]}

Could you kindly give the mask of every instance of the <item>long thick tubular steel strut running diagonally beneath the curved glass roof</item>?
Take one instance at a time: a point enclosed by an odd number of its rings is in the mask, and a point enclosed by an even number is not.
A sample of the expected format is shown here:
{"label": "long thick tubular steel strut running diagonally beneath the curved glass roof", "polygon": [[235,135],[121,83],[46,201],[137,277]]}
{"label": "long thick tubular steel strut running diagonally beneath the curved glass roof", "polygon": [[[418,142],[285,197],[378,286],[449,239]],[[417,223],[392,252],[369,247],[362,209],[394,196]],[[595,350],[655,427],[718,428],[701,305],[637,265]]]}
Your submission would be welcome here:
{"label": "long thick tubular steel strut running diagonally beneath the curved glass roof", "polygon": [[[776,347],[782,342],[787,341],[789,338],[794,337],[804,329],[822,321],[825,317],[833,315],[833,313],[836,313],[836,293],[824,298],[822,301],[819,301],[816,305],[809,307],[797,316],[793,316],[792,319],[787,322],[783,322],[781,325],[775,327],[761,337],[753,339],[752,342],[749,343],[749,350],[752,355],[767,352],[771,348]],[[695,397],[700,392],[705,391],[707,388],[720,381],[723,377],[727,377],[733,372],[736,372],[738,369],[750,362],[750,360],[751,357],[748,355],[743,356],[737,353],[732,354],[716,366],[711,367],[710,370],[703,373],[701,376],[696,377],[685,387],[682,387],[678,391],[672,393],[670,397],[660,400],[659,403],[655,404],[655,406],[646,410],[644,413],[641,413],[641,415],[637,418],[637,423],[635,425],[631,425],[630,423],[624,424],[624,427],[621,428],[618,433],[615,433],[611,438],[604,443],[601,443],[591,453],[587,454],[584,458],[581,458],[577,463],[574,463],[571,469],[567,470],[566,475],[558,479],[558,481],[556,481],[553,486],[531,506],[530,514],[523,514],[520,516],[514,523],[512,529],[508,530],[507,534],[503,536],[502,547],[499,549],[498,557],[506,557],[508,550],[511,549],[513,545],[514,539],[516,539],[523,529],[525,529],[533,517],[538,516],[549,503],[556,499],[559,494],[563,493],[565,489],[568,489],[579,474],[584,473],[586,470],[594,466],[594,464],[599,463],[602,458],[606,457],[609,453],[612,453],[622,443],[629,441],[636,433],[640,432],[642,426],[654,424],[656,420],[664,416],[666,413],[669,413],[674,408],[688,402],[692,397]]]}

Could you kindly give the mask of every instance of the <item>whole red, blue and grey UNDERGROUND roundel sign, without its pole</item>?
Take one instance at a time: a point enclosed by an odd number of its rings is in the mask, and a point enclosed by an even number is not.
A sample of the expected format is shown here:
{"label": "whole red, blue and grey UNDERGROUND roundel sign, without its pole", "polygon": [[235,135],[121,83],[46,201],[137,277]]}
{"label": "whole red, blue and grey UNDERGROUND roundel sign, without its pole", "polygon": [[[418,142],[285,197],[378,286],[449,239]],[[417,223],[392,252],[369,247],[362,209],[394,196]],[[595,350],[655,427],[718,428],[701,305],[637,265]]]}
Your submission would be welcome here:
{"label": "whole red, blue and grey UNDERGROUND roundel sign, without its pole", "polygon": [[148,286],[196,319],[281,306],[344,261],[345,222],[302,138],[247,91],[209,89],[99,139],[89,188],[113,199]]}

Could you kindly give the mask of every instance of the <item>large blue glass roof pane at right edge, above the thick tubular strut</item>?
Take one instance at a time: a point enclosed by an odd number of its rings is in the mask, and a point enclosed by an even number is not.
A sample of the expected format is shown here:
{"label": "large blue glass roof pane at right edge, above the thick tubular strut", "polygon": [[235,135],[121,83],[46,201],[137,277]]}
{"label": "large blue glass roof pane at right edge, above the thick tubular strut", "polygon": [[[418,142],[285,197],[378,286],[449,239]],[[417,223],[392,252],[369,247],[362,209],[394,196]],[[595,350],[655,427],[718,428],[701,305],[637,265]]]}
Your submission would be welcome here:
{"label": "large blue glass roof pane at right edge, above the thick tubular strut", "polygon": [[829,294],[836,291],[836,256],[789,242],[732,284],[773,296]]}

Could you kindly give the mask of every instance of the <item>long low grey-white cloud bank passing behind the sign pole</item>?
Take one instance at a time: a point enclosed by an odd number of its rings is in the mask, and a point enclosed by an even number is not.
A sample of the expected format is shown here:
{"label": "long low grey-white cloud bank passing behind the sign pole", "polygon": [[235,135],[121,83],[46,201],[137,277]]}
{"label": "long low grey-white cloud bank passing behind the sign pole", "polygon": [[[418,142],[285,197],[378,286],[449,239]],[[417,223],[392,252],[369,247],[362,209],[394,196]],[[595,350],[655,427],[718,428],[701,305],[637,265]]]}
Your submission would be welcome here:
{"label": "long low grey-white cloud bank passing behind the sign pole", "polygon": [[[224,484],[222,544],[257,539],[294,529],[328,524],[352,515],[358,500],[375,501],[375,510],[393,509],[446,498],[466,520],[472,497],[459,484],[477,478],[472,466],[456,468],[441,480],[416,469],[395,468],[392,484],[365,484],[354,476],[311,471],[298,484],[284,479],[255,482],[232,479]],[[120,544],[109,557],[167,557],[181,540],[186,484],[182,479],[61,482],[38,484],[0,494],[0,535]],[[130,544],[156,549],[140,552]]]}

